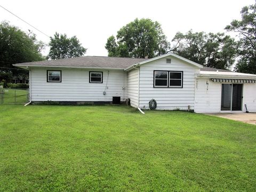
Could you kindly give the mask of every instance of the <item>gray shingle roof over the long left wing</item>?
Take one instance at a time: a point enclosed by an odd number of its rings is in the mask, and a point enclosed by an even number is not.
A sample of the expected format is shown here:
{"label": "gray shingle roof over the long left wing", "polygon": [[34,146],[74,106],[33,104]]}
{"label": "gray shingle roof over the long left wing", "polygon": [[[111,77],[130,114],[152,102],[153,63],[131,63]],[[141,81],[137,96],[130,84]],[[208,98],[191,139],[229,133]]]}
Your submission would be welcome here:
{"label": "gray shingle roof over the long left wing", "polygon": [[91,68],[126,68],[146,59],[85,56],[68,59],[17,63],[15,66],[70,66]]}

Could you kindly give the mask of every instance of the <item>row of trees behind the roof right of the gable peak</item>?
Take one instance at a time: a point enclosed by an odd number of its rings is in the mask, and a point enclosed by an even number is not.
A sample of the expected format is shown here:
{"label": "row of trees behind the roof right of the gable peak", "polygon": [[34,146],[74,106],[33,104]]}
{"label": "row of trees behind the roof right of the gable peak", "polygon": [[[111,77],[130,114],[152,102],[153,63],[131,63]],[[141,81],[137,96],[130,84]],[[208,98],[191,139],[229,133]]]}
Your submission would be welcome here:
{"label": "row of trees behind the roof right of the gable peak", "polygon": [[178,32],[172,39],[172,52],[205,67],[229,69],[235,62],[235,41],[223,33]]}

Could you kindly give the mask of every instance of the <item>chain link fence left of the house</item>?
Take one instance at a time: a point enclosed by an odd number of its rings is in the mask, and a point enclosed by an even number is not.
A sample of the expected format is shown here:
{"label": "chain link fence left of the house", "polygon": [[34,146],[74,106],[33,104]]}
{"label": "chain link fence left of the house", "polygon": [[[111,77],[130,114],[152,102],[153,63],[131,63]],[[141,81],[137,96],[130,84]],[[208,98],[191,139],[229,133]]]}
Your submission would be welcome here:
{"label": "chain link fence left of the house", "polygon": [[0,103],[27,103],[29,102],[29,89],[3,89],[0,88]]}

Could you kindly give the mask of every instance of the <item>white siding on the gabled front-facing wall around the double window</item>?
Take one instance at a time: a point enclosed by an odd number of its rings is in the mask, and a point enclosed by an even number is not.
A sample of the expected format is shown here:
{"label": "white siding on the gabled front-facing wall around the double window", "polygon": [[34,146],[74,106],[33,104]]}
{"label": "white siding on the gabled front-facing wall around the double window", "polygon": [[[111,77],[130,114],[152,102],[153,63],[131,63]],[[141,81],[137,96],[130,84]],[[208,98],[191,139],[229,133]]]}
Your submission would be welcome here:
{"label": "white siding on the gabled front-facing wall around the double window", "polygon": [[[194,109],[195,73],[199,68],[172,57],[171,63],[166,58],[158,59],[140,67],[140,108],[149,108],[148,102],[155,99],[158,110]],[[154,88],[154,70],[183,71],[183,88]]]}

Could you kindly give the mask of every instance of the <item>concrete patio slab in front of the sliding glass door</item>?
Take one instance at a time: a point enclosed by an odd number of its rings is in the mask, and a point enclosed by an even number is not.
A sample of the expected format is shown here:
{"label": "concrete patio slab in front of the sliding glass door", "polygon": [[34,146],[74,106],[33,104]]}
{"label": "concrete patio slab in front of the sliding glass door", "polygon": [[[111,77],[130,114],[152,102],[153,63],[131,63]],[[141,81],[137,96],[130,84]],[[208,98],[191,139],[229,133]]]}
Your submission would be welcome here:
{"label": "concrete patio slab in front of the sliding glass door", "polygon": [[250,124],[256,125],[256,113],[205,113],[205,114],[233,119],[235,121],[241,121],[244,123],[250,123]]}

